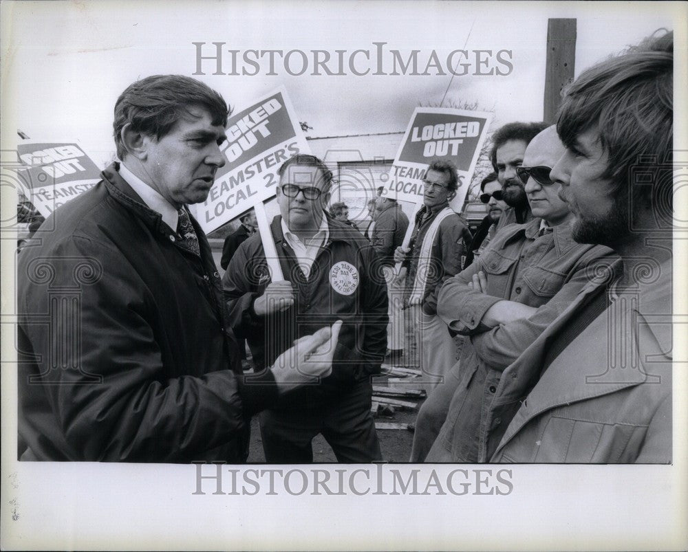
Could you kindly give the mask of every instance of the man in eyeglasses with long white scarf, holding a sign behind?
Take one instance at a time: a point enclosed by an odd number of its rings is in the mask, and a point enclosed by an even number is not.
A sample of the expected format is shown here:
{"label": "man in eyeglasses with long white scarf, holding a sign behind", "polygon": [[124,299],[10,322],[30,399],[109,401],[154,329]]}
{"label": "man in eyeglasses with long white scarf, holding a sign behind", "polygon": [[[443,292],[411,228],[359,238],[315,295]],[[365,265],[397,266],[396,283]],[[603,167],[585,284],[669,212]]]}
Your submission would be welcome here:
{"label": "man in eyeglasses with long white scarf, holding a sign behind", "polygon": [[411,242],[407,249],[396,248],[394,261],[404,263],[399,277],[406,273],[406,302],[413,309],[420,369],[432,377],[429,386],[434,387],[458,357],[457,343],[437,318],[436,288],[460,272],[464,249],[473,236],[449,207],[458,188],[456,167],[449,161],[432,162],[423,185],[423,206],[416,214]]}

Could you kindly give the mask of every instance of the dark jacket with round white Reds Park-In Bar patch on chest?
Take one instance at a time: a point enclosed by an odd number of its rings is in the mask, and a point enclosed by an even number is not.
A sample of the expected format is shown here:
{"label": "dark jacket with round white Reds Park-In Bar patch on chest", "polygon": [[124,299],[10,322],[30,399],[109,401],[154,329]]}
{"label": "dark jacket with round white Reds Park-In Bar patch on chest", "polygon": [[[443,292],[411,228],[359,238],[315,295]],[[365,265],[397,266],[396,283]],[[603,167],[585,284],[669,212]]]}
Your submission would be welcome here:
{"label": "dark jacket with round white Reds Park-In Bar patch on chest", "polygon": [[387,349],[387,287],[383,274],[374,272],[374,249],[349,225],[329,217],[327,222],[330,237],[305,278],[282,234],[281,217],[272,220],[283,276],[296,290],[286,311],[261,317],[253,310],[270,283],[259,234],[239,246],[222,279],[232,328],[248,341],[257,368],[269,366],[297,338],[343,320],[332,375],[308,390],[312,401],[378,373]]}

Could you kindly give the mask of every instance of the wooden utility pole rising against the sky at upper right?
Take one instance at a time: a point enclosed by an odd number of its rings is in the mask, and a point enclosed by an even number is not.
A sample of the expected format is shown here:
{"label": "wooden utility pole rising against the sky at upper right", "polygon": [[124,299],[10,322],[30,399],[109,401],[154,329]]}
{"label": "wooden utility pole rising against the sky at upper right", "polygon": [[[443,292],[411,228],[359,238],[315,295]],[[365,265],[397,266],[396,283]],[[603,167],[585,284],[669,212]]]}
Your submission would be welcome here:
{"label": "wooden utility pole rising against the sky at upper right", "polygon": [[576,20],[547,20],[547,67],[544,121],[554,123],[561,89],[573,80],[576,65]]}

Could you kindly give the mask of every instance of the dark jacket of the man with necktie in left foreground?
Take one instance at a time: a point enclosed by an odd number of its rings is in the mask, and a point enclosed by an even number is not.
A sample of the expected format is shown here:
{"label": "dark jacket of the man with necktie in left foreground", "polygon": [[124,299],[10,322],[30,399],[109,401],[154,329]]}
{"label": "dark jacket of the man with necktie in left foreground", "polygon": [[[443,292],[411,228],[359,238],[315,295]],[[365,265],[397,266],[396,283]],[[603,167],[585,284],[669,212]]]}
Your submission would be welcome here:
{"label": "dark jacket of the man with necktie in left foreground", "polygon": [[19,454],[239,461],[244,415],[275,399],[274,378],[239,382],[201,228],[193,221],[199,258],[118,168],[58,208],[45,222],[54,230],[19,256]]}

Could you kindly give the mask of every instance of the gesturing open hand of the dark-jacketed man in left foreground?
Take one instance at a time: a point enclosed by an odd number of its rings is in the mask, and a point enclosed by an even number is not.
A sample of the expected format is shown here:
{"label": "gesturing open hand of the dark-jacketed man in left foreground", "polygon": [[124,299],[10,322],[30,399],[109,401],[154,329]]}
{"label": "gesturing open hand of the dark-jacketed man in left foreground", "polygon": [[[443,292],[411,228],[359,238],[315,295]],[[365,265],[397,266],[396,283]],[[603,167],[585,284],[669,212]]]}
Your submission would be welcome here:
{"label": "gesturing open hand of the dark-jacketed man in left foreground", "polygon": [[312,383],[314,378],[327,377],[332,373],[332,359],[339,338],[342,321],[332,324],[332,329],[321,328],[313,335],[296,340],[291,349],[284,351],[272,365],[272,375],[279,393]]}

